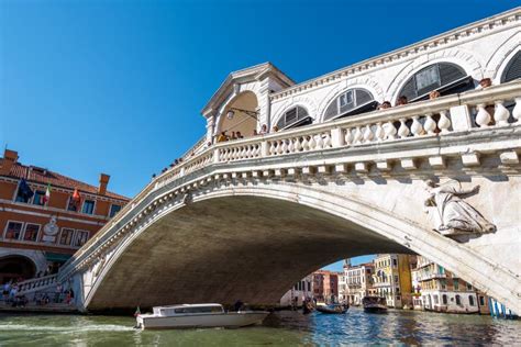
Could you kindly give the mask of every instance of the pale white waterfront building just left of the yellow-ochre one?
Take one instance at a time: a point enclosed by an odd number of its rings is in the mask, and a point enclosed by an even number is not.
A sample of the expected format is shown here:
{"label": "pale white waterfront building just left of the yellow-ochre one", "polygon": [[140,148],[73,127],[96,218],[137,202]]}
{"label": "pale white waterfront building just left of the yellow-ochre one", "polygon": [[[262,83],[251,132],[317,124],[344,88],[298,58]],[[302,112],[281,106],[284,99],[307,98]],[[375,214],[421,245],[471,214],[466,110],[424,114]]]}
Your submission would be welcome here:
{"label": "pale white waterfront building just left of the yellow-ochre one", "polygon": [[373,291],[373,275],[375,266],[373,262],[361,264],[357,266],[351,266],[346,264],[344,266],[345,277],[345,301],[352,305],[362,304],[364,296],[370,295]]}

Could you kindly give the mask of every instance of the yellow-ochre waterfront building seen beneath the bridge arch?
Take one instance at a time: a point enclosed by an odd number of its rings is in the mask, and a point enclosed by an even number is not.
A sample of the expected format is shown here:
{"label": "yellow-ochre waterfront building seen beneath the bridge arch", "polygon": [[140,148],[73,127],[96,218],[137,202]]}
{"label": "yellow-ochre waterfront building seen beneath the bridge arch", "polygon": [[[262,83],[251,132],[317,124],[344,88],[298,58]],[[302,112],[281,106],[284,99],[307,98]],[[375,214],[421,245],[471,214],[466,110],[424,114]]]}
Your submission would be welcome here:
{"label": "yellow-ochre waterfront building seen beneath the bridge arch", "polygon": [[374,260],[373,286],[377,295],[387,300],[389,307],[412,305],[412,284],[409,255],[379,254]]}

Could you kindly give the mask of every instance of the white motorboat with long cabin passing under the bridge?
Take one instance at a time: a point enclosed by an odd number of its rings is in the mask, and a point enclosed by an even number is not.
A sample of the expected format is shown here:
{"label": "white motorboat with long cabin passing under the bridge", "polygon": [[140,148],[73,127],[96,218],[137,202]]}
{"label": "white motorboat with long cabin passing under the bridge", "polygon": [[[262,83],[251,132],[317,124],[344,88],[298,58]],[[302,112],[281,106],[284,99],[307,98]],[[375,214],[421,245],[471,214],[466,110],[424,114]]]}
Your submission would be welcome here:
{"label": "white motorboat with long cabin passing under the bridge", "polygon": [[154,307],[152,314],[138,314],[136,327],[142,329],[188,327],[241,327],[262,322],[269,312],[225,312],[221,304],[182,304]]}

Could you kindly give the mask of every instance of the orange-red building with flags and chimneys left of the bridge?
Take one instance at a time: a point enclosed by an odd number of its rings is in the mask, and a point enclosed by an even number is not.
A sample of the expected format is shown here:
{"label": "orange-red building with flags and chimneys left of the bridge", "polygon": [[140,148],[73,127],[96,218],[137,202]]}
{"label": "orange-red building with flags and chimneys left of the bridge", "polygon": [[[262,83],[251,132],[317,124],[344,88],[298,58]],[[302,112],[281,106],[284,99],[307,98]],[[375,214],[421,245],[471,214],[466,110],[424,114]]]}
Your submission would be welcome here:
{"label": "orange-red building with flags and chimneys left of the bridge", "polygon": [[52,273],[91,238],[129,199],[107,190],[110,176],[90,186],[23,165],[15,150],[0,158],[0,283]]}

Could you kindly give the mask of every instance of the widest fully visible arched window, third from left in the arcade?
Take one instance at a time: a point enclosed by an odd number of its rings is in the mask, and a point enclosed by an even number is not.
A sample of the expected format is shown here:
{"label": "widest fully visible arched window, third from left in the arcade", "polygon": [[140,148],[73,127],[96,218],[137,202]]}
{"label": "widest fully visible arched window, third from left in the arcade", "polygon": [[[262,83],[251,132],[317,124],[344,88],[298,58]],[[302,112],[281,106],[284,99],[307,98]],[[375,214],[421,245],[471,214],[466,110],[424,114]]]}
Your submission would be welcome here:
{"label": "widest fully visible arched window, third from left in the arcade", "polygon": [[414,102],[429,99],[429,93],[433,90],[447,96],[473,88],[473,78],[463,68],[452,63],[436,63],[412,75],[398,97],[404,96],[409,102]]}

